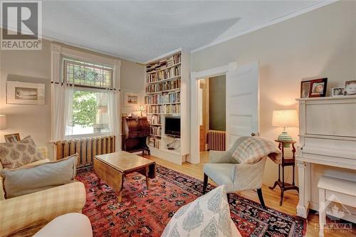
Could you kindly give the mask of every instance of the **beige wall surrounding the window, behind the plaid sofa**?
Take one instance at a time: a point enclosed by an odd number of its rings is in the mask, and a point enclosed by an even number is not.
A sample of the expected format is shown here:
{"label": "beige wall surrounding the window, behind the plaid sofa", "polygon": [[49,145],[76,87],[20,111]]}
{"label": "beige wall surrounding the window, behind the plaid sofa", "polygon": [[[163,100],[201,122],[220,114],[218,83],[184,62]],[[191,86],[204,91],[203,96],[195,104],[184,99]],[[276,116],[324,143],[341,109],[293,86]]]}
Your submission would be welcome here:
{"label": "beige wall surrounding the window, behind the plaid sofa", "polygon": [[[41,51],[0,51],[0,114],[7,115],[8,128],[0,131],[0,142],[4,134],[19,132],[21,137],[31,135],[38,145],[50,147],[51,139],[51,41],[43,40]],[[65,46],[67,48],[75,48]],[[90,52],[75,48],[80,51]],[[90,52],[93,54],[99,53]],[[112,58],[107,56],[108,58]],[[122,90],[142,91],[145,67],[121,60]],[[45,83],[45,105],[6,105],[6,80],[22,80]],[[122,110],[124,110],[122,108]],[[126,109],[127,110],[132,110]],[[118,121],[120,122],[120,121]],[[50,152],[51,153],[51,152]]]}

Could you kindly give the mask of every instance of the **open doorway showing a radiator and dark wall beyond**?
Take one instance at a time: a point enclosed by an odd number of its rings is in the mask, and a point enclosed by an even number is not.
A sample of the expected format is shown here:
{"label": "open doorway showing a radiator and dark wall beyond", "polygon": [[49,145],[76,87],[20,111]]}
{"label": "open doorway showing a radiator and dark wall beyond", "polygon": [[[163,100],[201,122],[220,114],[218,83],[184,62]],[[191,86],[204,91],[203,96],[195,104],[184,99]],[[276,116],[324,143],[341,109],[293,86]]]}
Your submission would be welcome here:
{"label": "open doorway showing a radiator and dark wall beyond", "polygon": [[226,75],[198,80],[199,152],[225,150]]}

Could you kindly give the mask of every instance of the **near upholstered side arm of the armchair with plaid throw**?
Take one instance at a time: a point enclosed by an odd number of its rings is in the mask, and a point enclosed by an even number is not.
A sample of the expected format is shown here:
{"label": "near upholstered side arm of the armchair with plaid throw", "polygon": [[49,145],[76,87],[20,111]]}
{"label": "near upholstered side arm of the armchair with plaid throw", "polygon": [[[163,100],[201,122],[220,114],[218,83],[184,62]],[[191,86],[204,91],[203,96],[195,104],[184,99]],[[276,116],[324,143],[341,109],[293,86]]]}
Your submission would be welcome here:
{"label": "near upholstered side arm of the armchair with plaid throw", "polygon": [[234,174],[234,190],[261,189],[266,157],[254,164],[236,164]]}

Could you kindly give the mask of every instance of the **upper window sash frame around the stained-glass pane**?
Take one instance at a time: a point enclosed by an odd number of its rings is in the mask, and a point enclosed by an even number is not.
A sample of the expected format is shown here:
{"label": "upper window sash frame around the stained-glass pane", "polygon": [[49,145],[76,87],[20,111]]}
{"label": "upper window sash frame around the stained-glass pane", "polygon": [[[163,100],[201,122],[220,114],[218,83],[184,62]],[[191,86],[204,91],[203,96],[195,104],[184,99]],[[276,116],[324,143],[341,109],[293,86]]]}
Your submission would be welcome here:
{"label": "upper window sash frame around the stained-glass pane", "polygon": [[[85,80],[83,80],[83,83],[80,83],[80,82],[76,83],[75,81],[69,81],[68,80],[68,65],[78,65],[79,67],[93,68],[94,70],[98,69],[98,70],[107,71],[107,72],[110,73],[110,85],[108,85],[108,86],[105,86],[105,85],[104,86],[103,85],[88,85],[89,83],[85,83]],[[105,66],[105,65],[95,65],[94,63],[87,63],[87,62],[81,61],[81,60],[63,58],[63,81],[64,81],[64,83],[68,83],[70,85],[73,84],[73,85],[75,85],[75,87],[78,86],[78,87],[83,87],[83,88],[98,88],[98,89],[105,89],[105,90],[113,89],[113,74],[114,74],[113,68],[110,68],[110,67]],[[82,79],[79,79],[79,80],[82,81]]]}

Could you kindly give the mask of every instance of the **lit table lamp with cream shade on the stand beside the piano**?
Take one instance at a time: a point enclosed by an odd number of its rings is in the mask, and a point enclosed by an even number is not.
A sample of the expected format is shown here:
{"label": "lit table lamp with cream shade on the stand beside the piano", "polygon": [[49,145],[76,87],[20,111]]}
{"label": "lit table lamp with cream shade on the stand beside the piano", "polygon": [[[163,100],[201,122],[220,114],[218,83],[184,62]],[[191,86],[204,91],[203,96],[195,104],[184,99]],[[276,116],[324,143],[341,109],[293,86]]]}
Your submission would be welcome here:
{"label": "lit table lamp with cream shade on the stand beside the piano", "polygon": [[[273,110],[272,126],[283,127],[283,132],[278,136],[278,141],[293,141],[293,138],[288,135],[286,127],[298,127],[297,110]],[[286,143],[284,147],[290,147],[290,144]]]}

